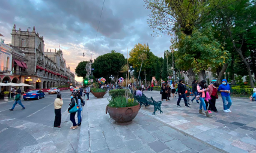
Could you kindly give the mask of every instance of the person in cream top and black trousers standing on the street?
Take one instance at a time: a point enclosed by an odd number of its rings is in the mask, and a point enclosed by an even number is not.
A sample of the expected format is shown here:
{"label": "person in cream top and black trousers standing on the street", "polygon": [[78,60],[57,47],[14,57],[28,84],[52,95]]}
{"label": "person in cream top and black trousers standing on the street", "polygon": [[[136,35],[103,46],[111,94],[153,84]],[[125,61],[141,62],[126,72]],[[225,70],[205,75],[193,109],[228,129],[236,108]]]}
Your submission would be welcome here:
{"label": "person in cream top and black trousers standing on the street", "polygon": [[61,98],[61,94],[57,94],[57,98],[54,100],[54,112],[55,112],[55,120],[54,127],[61,127],[61,108],[63,105],[63,100]]}

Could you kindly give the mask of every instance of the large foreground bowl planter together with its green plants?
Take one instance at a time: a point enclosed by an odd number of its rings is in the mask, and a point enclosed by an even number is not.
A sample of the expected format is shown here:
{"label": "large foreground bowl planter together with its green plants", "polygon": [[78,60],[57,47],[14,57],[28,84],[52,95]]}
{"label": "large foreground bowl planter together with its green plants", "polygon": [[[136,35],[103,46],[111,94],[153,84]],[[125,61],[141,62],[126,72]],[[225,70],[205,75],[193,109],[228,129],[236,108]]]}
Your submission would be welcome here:
{"label": "large foreground bowl planter together with its green plants", "polygon": [[[121,72],[128,72],[128,70],[127,65],[121,68]],[[127,87],[127,82],[126,79],[122,83]],[[106,106],[106,114],[109,113],[109,116],[113,118],[113,120],[118,123],[125,123],[132,121],[133,118],[136,117],[140,105],[133,99],[133,94],[130,94],[129,90],[112,90],[109,91],[109,95],[111,96],[111,99],[108,99],[109,105]]]}

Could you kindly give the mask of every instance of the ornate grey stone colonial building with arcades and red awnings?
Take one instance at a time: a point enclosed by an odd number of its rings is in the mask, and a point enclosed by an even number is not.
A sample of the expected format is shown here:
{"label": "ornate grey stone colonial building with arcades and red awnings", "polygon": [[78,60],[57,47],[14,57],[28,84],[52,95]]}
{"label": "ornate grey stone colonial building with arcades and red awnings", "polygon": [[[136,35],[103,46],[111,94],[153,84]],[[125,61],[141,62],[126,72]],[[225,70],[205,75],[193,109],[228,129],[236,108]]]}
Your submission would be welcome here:
{"label": "ornate grey stone colonial building with arcades and red awnings", "polygon": [[[68,68],[69,70],[66,68],[66,60],[63,58],[62,50],[44,51],[43,36],[35,32],[35,27],[32,31],[29,29],[22,31],[20,28],[16,30],[16,25],[14,25],[11,36],[11,45],[24,51],[25,57],[28,59],[26,63],[28,75],[22,82],[34,85],[34,88],[60,87],[72,84],[70,80],[75,75],[70,72],[70,68]],[[32,79],[32,81],[26,81],[27,78]]]}

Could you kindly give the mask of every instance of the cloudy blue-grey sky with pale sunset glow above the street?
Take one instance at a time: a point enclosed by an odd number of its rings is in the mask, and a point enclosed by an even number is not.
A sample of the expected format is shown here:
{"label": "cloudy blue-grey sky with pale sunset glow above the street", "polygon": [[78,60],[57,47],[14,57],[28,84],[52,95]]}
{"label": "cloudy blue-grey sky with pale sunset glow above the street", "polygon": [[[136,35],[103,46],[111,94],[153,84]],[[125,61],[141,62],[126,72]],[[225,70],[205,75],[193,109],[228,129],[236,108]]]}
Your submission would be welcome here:
{"label": "cloudy blue-grey sky with pale sunset glow above the street", "polygon": [[[6,0],[0,5],[0,33],[5,44],[11,43],[11,29],[16,24],[22,30],[35,26],[44,36],[44,51],[58,50],[59,44],[67,66],[75,68],[83,60],[96,59],[115,50],[127,57],[135,44],[147,44],[159,57],[171,45],[170,37],[151,36],[153,29],[147,25],[150,10],[142,0],[105,0],[99,25],[103,0]],[[97,39],[96,39],[97,33]],[[86,56],[83,57],[82,54]],[[76,77],[77,81],[82,78]]]}

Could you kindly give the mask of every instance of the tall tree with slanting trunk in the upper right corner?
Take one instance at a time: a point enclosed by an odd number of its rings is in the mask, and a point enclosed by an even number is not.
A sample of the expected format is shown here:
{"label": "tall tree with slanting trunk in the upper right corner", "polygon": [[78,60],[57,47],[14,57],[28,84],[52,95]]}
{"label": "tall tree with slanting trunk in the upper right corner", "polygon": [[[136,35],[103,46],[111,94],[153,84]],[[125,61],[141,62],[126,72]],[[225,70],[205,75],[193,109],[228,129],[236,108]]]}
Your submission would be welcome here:
{"label": "tall tree with slanting trunk in the upper right corner", "polygon": [[252,88],[254,87],[252,72],[249,63],[243,54],[245,52],[243,48],[246,48],[245,43],[246,38],[249,38],[249,30],[255,29],[255,14],[255,1],[250,0],[235,1],[225,10],[222,9],[218,11],[218,17],[228,31],[234,50],[239,54],[246,66]]}

